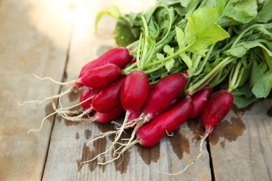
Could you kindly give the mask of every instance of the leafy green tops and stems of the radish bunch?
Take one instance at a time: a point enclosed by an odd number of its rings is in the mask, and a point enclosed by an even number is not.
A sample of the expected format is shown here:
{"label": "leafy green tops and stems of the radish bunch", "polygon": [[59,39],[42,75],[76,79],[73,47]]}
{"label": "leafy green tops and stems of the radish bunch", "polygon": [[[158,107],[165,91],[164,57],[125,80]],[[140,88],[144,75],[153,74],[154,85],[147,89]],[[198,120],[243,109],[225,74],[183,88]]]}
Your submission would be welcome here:
{"label": "leafy green tops and stems of the radish bunch", "polygon": [[[122,15],[109,7],[98,13],[116,19],[116,44],[131,49],[137,68],[151,84],[173,72],[188,72],[187,91],[225,88],[226,79],[241,62],[232,88],[236,107],[265,98],[272,88],[272,1],[158,1],[145,13]],[[243,71],[241,71],[243,70]]]}

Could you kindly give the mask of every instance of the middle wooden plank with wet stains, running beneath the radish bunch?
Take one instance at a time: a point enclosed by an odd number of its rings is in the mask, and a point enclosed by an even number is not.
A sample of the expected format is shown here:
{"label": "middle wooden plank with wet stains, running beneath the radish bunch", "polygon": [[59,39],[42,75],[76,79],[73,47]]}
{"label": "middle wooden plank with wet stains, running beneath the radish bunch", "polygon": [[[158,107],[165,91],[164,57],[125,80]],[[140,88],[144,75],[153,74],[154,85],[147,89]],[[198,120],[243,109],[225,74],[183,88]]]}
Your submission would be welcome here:
{"label": "middle wooden plank with wet stains, running beneath the radish bunch", "polygon": [[[115,22],[109,17],[103,17],[98,36],[93,36],[93,22],[98,10],[116,4],[122,12],[137,12],[143,7],[151,7],[148,3],[149,1],[136,3],[127,0],[79,1],[69,53],[68,79],[77,77],[86,61],[97,58],[102,52],[115,46],[112,36]],[[63,97],[63,107],[77,103],[78,97],[79,93],[71,94],[68,98]],[[80,162],[108,148],[112,137],[96,141],[89,147],[86,146],[87,141],[112,128],[111,124],[70,123],[58,116],[52,132],[43,180],[211,180],[209,154],[205,146],[202,159],[188,168],[183,175],[168,176],[157,172],[181,171],[195,159],[199,149],[196,134],[202,129],[193,120],[175,132],[174,137],[163,139],[154,148],[135,145],[124,154],[123,162],[118,160],[107,166],[97,166],[97,162],[91,162],[80,166]]]}

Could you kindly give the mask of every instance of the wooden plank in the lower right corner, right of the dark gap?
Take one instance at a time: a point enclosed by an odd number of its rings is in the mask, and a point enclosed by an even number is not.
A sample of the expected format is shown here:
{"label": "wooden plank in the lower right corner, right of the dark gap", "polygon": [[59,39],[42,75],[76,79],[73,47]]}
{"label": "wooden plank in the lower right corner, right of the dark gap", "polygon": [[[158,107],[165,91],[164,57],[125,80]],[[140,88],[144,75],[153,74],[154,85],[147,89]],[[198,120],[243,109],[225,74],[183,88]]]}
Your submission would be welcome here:
{"label": "wooden plank in the lower right corner, right of the dark gap", "polygon": [[272,103],[233,109],[210,139],[216,180],[271,180]]}

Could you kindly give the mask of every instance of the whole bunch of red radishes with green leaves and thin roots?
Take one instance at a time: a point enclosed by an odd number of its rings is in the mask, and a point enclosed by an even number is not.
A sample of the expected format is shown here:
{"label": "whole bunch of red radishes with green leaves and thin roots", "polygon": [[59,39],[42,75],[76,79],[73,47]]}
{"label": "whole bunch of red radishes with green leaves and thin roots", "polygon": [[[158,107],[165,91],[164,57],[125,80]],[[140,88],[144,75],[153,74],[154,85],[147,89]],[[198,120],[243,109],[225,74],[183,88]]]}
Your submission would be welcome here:
{"label": "whole bunch of red radishes with green leaves and thin roots", "polygon": [[[66,108],[53,104],[54,113],[66,120],[109,123],[124,116],[116,130],[96,138],[116,134],[112,145],[86,162],[114,150],[112,159],[98,162],[107,164],[136,143],[152,147],[186,120],[200,118],[206,131],[196,162],[204,139],[231,109],[236,88],[250,88],[242,97],[246,102],[243,106],[269,95],[272,82],[263,84],[272,79],[271,19],[262,16],[266,11],[263,3],[254,6],[256,11],[263,11],[259,17],[246,17],[248,22],[240,15],[229,19],[232,3],[244,7],[247,2],[162,0],[144,14],[120,15],[115,30],[120,47],[86,63],[73,81],[43,78],[70,85],[67,91],[45,100],[83,89],[79,104]],[[251,8],[246,10],[252,13]],[[255,69],[262,74],[255,74]],[[82,109],[70,110],[78,105]],[[119,143],[125,129],[133,129],[131,137]]]}

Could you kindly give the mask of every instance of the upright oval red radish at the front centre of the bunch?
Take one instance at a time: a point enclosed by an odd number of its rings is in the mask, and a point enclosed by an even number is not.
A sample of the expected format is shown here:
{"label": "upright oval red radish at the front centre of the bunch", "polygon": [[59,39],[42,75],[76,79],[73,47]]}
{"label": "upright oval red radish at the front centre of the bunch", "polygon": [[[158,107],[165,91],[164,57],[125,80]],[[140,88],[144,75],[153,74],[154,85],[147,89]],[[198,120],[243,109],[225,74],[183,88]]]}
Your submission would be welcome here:
{"label": "upright oval red radish at the front centre of the bunch", "polygon": [[149,95],[149,78],[141,70],[126,76],[121,86],[121,104],[126,111],[140,109]]}

